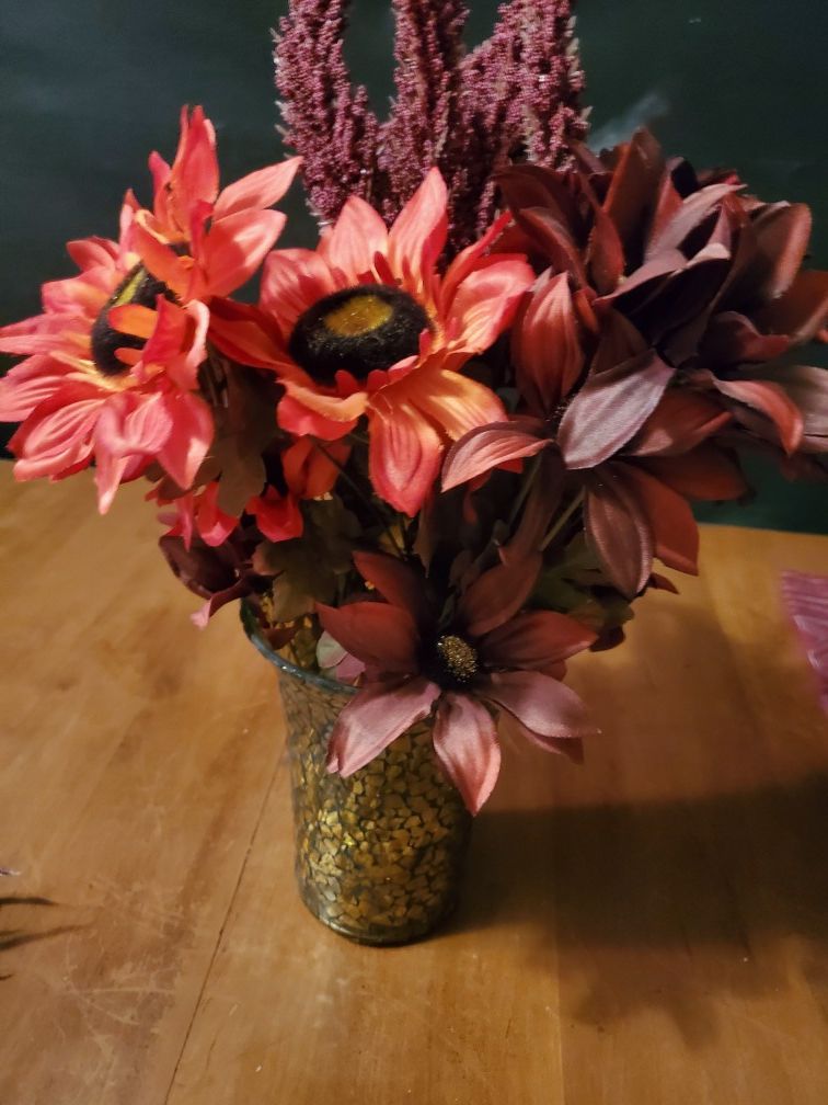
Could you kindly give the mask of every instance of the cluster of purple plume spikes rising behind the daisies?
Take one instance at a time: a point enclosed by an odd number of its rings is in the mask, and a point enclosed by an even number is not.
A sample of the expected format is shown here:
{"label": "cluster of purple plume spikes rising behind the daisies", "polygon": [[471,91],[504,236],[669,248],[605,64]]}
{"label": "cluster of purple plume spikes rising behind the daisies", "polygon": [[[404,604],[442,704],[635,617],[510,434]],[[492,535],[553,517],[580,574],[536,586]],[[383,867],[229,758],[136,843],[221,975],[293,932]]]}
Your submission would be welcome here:
{"label": "cluster of purple plume spikes rising behind the daisies", "polygon": [[463,0],[392,0],[396,96],[385,123],[352,87],[342,55],[348,0],[291,0],[276,43],[285,140],[305,158],[319,218],[361,196],[389,224],[437,166],[449,188],[449,253],[497,210],[512,161],[561,168],[586,135],[573,0],[511,0],[467,54]]}

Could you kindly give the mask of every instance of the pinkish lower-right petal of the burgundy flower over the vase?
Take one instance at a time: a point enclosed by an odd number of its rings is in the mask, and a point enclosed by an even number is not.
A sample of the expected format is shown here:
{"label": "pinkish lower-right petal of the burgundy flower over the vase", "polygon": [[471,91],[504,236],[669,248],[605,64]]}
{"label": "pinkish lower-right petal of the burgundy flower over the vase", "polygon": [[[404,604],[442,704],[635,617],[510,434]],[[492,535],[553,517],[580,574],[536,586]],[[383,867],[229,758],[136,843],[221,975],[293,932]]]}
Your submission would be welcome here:
{"label": "pinkish lower-right petal of the burgundy flower over the vase", "polygon": [[539,738],[571,739],[597,732],[575,692],[540,672],[493,674],[478,694],[507,709]]}

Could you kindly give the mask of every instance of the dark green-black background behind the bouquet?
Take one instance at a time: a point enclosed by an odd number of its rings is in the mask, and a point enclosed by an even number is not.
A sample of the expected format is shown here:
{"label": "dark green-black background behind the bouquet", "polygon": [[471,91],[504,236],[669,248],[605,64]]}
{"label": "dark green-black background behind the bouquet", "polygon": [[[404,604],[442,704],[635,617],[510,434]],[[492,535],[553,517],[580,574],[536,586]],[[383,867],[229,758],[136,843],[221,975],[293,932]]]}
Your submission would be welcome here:
{"label": "dark green-black background behind the bouquet", "polygon": [[[286,7],[0,0],[0,323],[36,313],[42,281],[72,275],[64,242],[117,235],[127,187],[150,201],[147,155],[172,157],[182,104],[202,103],[215,123],[225,182],[279,157],[269,30]],[[470,7],[476,43],[496,3]],[[391,92],[390,8],[355,0],[348,42],[380,109]],[[578,34],[594,146],[648,123],[697,166],[733,165],[763,199],[807,202],[811,263],[828,266],[822,0],[582,0]],[[290,199],[279,244],[312,245],[298,189]],[[754,504],[700,516],[828,532],[824,487],[753,472]]]}

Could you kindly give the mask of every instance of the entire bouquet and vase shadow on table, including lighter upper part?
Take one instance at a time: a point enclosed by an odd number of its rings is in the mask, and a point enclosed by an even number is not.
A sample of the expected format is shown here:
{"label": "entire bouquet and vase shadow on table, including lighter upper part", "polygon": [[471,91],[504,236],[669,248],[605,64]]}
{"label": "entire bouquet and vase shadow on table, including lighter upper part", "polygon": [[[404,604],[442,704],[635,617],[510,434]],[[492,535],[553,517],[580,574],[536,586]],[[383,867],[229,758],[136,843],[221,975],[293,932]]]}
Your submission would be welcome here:
{"label": "entire bouquet and vase shadow on table, including lighter upper part", "polygon": [[[816,698],[813,711],[797,698],[813,692],[809,672],[790,651],[777,661],[740,645],[742,674],[728,683],[731,645],[701,617],[666,619],[648,634],[649,672],[640,652],[620,650],[599,676],[611,709],[628,687],[634,720],[624,732],[643,733],[640,741],[614,745],[611,715],[583,780],[566,765],[524,762],[529,798],[508,780],[506,808],[476,820],[446,934],[520,934],[519,954],[558,975],[562,1015],[596,1031],[658,1008],[703,1046],[716,1033],[718,999],[768,994],[795,972],[828,1020],[828,740]],[[688,641],[709,652],[691,657]],[[682,696],[679,675],[671,685],[664,656],[694,665],[698,701]],[[597,687],[578,688],[599,701]],[[771,740],[767,726],[752,728],[768,703],[779,727]],[[615,793],[624,800],[604,798]]]}

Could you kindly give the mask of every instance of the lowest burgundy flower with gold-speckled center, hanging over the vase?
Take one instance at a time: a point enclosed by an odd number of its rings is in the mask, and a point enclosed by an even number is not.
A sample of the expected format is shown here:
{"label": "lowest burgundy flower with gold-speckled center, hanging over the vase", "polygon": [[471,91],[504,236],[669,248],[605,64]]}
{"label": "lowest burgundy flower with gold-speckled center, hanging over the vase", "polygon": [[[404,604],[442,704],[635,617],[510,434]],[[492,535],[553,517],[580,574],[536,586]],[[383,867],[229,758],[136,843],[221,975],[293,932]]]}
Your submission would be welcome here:
{"label": "lowest burgundy flower with gold-speckled center, hanging over the vase", "polygon": [[373,552],[354,562],[385,601],[317,607],[328,633],[365,664],[331,734],[329,770],[352,775],[435,708],[437,758],[473,813],[500,769],[495,714],[506,711],[540,747],[580,758],[594,729],[560,680],[566,657],[595,634],[564,614],[521,610],[534,561],[509,558],[479,576],[448,618],[412,566]]}

